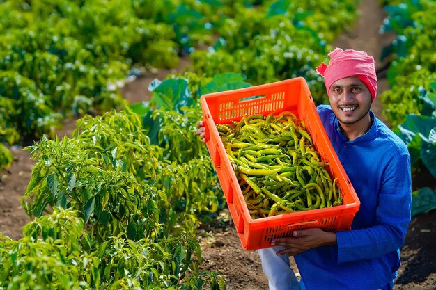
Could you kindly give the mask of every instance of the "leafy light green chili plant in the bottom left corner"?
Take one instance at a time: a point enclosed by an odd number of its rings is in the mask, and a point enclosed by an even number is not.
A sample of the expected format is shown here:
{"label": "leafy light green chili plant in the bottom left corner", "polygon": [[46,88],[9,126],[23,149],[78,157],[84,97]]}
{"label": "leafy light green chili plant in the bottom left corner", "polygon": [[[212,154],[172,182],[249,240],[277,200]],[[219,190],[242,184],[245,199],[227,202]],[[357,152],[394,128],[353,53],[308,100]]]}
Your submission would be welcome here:
{"label": "leafy light green chili plant in the bottom left corner", "polygon": [[84,229],[74,211],[55,207],[24,226],[22,239],[1,236],[0,289],[98,289],[100,262]]}

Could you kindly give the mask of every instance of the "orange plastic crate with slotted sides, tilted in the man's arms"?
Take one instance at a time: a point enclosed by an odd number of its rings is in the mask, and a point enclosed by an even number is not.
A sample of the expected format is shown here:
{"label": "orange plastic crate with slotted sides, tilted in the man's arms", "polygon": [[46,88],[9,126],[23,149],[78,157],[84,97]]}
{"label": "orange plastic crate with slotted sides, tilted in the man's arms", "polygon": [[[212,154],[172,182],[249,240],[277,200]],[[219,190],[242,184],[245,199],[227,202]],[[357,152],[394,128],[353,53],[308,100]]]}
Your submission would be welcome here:
{"label": "orange plastic crate with slotted sides, tilted in the man's arms", "polygon": [[[205,139],[217,170],[233,223],[245,250],[271,247],[274,238],[290,236],[295,229],[320,227],[328,231],[350,229],[360,202],[322,126],[305,79],[299,77],[250,88],[201,96]],[[320,156],[326,159],[330,176],[338,178],[343,204],[267,218],[252,219],[238,179],[228,159],[215,124],[239,121],[244,115],[291,111],[306,123]]]}

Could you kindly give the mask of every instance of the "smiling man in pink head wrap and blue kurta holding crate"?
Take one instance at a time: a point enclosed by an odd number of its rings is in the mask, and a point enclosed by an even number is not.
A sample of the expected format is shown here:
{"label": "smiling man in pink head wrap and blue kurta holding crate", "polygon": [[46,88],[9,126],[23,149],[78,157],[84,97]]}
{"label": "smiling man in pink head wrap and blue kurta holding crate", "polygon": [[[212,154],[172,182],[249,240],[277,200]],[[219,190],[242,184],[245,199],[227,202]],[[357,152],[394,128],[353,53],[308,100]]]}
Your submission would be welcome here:
{"label": "smiling man in pink head wrap and blue kurta holding crate", "polygon": [[[329,65],[317,70],[330,106],[318,106],[318,113],[361,206],[351,230],[302,229],[274,239],[275,247],[258,250],[263,271],[271,290],[392,289],[410,223],[410,156],[370,110],[377,95],[374,59],[339,48],[328,56]],[[288,256],[295,257],[299,284]]]}

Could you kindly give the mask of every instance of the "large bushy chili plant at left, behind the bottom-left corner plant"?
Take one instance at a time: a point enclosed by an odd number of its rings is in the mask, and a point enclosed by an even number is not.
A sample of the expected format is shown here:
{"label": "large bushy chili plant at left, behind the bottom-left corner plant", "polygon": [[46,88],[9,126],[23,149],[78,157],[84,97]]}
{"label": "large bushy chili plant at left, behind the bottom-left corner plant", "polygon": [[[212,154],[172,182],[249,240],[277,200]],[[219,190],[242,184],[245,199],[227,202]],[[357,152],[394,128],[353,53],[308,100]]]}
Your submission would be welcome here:
{"label": "large bushy chili plant at left, behind the bottom-left corner plant", "polygon": [[126,227],[137,238],[156,234],[159,190],[139,177],[154,166],[159,150],[148,146],[135,113],[107,113],[93,121],[78,122],[76,138],[42,138],[28,147],[38,162],[24,194],[24,208],[29,216],[41,216],[54,205],[76,209],[100,241]]}

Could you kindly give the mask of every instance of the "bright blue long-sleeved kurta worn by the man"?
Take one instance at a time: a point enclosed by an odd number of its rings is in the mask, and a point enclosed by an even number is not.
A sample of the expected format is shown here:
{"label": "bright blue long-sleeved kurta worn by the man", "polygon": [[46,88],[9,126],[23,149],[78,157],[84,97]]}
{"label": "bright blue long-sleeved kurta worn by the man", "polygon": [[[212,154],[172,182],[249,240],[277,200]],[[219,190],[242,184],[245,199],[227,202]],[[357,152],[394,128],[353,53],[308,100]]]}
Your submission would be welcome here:
{"label": "bright blue long-sleeved kurta worn by the man", "polygon": [[371,112],[371,129],[348,141],[330,106],[318,113],[361,202],[337,245],[295,256],[306,289],[389,288],[410,223],[412,182],[406,145]]}

